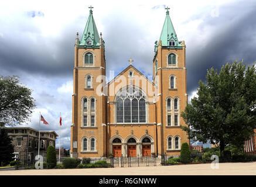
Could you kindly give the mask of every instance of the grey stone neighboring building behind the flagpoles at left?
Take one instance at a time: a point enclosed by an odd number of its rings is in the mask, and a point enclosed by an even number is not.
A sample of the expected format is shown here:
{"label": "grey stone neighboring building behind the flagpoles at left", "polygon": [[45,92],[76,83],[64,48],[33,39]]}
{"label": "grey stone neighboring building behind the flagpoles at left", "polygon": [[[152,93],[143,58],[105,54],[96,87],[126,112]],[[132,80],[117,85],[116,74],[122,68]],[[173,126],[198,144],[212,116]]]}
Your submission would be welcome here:
{"label": "grey stone neighboring building behind the flagpoles at left", "polygon": [[[8,136],[12,138],[15,158],[31,160],[38,154],[39,131],[30,127],[5,127],[8,129]],[[48,146],[55,147],[55,140],[58,134],[55,131],[40,131],[39,154],[46,157]]]}

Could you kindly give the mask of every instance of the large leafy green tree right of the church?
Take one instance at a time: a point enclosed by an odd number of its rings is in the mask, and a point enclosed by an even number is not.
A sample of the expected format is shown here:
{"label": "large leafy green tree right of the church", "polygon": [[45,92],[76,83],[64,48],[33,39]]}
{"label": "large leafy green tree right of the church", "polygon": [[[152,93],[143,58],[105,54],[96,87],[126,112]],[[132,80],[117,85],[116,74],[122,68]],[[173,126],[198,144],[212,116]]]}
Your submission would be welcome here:
{"label": "large leafy green tree right of the church", "polygon": [[240,147],[254,133],[256,124],[256,72],[243,62],[223,65],[217,72],[207,70],[206,84],[199,81],[198,97],[187,103],[182,117],[188,125],[182,129],[194,141],[210,140]]}

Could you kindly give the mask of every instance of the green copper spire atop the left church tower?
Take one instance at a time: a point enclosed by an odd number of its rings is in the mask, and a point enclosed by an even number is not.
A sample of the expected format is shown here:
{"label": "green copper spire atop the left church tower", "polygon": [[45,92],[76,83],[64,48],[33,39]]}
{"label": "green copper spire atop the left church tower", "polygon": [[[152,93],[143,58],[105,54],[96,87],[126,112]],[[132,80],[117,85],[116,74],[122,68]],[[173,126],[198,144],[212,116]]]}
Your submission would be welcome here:
{"label": "green copper spire atop the left church tower", "polygon": [[100,46],[100,36],[98,36],[98,30],[93,19],[92,6],[90,8],[90,15],[84,28],[84,33],[79,46],[84,47],[99,47]]}

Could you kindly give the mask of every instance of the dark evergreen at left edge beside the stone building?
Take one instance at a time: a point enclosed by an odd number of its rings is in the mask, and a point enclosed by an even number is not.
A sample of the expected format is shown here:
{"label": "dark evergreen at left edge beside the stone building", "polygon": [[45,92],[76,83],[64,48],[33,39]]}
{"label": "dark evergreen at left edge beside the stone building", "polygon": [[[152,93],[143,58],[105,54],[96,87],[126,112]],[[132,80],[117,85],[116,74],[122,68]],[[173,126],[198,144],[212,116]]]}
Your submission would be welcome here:
{"label": "dark evergreen at left edge beside the stone building", "polygon": [[8,130],[0,127],[0,166],[8,165],[14,157],[12,139],[8,136]]}

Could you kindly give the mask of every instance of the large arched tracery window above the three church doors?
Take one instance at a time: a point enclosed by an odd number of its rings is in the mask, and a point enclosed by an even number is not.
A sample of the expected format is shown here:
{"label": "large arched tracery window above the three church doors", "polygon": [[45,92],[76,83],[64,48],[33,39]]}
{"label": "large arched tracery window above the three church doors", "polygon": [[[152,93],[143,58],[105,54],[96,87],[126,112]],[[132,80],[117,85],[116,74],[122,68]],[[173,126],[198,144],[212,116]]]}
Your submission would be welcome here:
{"label": "large arched tracery window above the three church doors", "polygon": [[117,123],[145,123],[145,96],[138,88],[122,89],[117,94]]}

